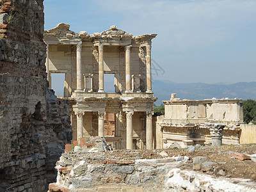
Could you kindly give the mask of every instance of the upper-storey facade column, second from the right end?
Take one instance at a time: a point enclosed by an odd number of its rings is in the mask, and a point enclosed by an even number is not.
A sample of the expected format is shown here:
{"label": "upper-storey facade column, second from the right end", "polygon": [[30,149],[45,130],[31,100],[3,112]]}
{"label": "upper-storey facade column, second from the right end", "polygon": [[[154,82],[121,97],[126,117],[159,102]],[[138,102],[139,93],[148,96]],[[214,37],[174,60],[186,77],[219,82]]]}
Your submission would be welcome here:
{"label": "upper-storey facade column, second from the right end", "polygon": [[131,93],[131,47],[125,46],[125,93]]}

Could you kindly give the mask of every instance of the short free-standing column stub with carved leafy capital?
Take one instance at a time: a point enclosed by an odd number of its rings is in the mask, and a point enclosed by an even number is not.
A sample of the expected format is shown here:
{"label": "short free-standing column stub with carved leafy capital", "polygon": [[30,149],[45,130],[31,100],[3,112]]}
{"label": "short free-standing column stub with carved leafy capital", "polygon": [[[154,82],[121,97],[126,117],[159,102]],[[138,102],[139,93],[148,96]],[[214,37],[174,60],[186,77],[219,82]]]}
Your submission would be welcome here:
{"label": "short free-standing column stub with carved leafy capital", "polygon": [[224,129],[225,125],[223,125],[223,124],[208,124],[207,127],[210,128],[212,145],[213,146],[221,146],[222,145],[223,129]]}

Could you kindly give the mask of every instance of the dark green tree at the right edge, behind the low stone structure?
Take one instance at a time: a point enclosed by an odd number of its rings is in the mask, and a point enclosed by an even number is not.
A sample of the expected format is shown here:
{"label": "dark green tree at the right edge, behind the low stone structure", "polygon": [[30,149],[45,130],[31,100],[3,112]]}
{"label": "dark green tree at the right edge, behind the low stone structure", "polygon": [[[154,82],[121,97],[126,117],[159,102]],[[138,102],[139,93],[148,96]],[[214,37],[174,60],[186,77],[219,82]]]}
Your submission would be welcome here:
{"label": "dark green tree at the right edge, behind the low stone structure", "polygon": [[252,99],[243,100],[244,123],[256,122],[256,101]]}

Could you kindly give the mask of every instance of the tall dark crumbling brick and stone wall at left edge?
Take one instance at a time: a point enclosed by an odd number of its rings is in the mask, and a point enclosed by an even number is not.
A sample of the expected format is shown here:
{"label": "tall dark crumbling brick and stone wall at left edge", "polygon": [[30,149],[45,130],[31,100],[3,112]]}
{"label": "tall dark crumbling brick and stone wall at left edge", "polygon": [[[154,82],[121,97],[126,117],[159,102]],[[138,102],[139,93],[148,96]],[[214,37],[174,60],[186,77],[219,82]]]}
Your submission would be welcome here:
{"label": "tall dark crumbling brick and stone wall at left edge", "polygon": [[0,1],[0,191],[46,191],[51,149],[72,138],[68,101],[49,97],[43,11],[43,0]]}

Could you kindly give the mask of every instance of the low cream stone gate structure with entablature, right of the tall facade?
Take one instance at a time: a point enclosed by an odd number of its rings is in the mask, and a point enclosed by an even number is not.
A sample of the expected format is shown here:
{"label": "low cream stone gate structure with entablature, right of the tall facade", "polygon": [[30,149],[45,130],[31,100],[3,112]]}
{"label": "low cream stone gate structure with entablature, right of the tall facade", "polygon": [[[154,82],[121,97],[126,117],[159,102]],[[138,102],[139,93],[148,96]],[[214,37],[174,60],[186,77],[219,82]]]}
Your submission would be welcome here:
{"label": "low cream stone gate structure with entablature, right of the tall facade", "polygon": [[[243,124],[241,99],[164,100],[163,117],[157,120],[157,148],[199,144],[239,144]],[[217,136],[217,133],[218,136]]]}

